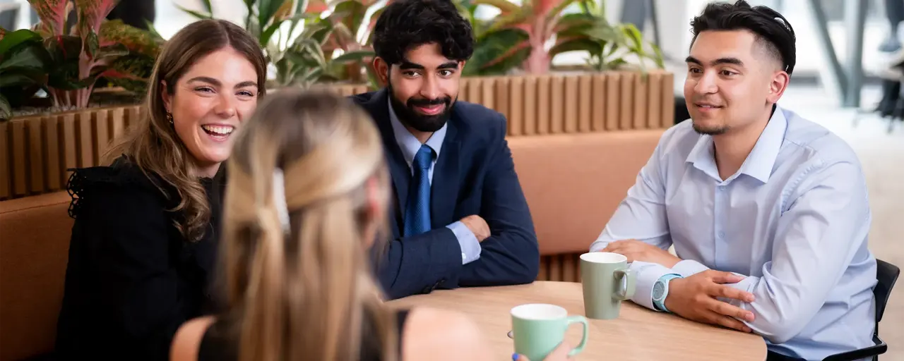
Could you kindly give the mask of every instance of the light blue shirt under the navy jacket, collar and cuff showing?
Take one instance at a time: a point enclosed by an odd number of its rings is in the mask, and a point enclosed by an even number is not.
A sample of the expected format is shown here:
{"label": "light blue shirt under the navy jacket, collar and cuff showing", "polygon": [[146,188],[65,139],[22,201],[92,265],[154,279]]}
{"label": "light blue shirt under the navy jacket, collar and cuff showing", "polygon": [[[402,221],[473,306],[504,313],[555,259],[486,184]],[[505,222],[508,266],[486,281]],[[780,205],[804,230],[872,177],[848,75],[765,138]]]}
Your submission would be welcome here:
{"label": "light blue shirt under the navy jacket, collar and cuff showing", "polygon": [[[391,104],[389,107],[392,133],[395,134],[396,143],[399,143],[401,155],[408,163],[408,168],[411,169],[411,162],[414,162],[414,155],[418,153],[421,143],[405,128],[405,125],[401,124]],[[446,128],[447,125],[443,125],[442,128],[430,135],[427,143],[424,143],[433,150],[433,162],[430,163],[430,169],[427,172],[431,185],[433,184],[433,169],[436,168],[439,151],[442,150],[443,140],[446,139]],[[411,174],[414,174],[414,170],[411,170]],[[456,221],[446,227],[452,230],[458,240],[458,245],[461,245],[461,264],[470,264],[480,258],[480,242],[477,241],[477,236],[471,232],[470,228],[461,221]]]}

